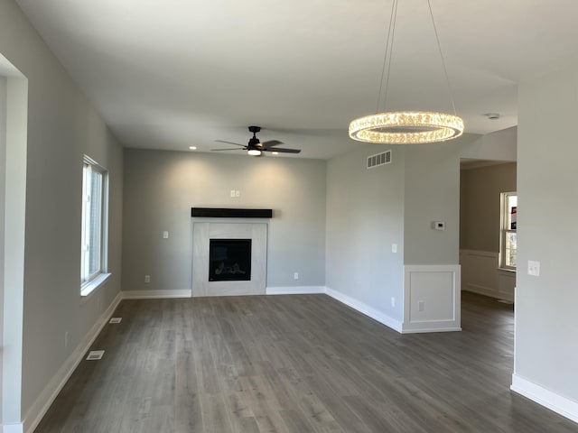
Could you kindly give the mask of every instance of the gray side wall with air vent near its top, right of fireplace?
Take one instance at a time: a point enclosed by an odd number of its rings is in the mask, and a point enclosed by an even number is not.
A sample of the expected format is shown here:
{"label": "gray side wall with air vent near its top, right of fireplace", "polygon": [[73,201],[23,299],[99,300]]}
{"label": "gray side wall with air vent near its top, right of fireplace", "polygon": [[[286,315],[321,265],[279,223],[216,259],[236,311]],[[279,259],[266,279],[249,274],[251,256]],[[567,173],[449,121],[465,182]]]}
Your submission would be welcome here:
{"label": "gray side wall with air vent near its top, right of fireplace", "polygon": [[[390,164],[366,168],[369,155],[388,149]],[[398,321],[403,316],[404,165],[403,147],[369,145],[333,158],[327,170],[327,287]],[[397,253],[391,244],[397,244]]]}

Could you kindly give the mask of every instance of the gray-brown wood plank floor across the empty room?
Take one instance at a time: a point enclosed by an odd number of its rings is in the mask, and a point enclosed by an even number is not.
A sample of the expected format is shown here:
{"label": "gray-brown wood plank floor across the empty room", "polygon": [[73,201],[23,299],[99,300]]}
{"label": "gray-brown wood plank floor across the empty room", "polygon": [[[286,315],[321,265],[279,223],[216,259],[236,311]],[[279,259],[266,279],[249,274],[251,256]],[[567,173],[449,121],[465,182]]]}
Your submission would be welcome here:
{"label": "gray-brown wood plank floor across the empty room", "polygon": [[576,432],[509,391],[512,306],[399,335],[325,295],[124,300],[45,432]]}

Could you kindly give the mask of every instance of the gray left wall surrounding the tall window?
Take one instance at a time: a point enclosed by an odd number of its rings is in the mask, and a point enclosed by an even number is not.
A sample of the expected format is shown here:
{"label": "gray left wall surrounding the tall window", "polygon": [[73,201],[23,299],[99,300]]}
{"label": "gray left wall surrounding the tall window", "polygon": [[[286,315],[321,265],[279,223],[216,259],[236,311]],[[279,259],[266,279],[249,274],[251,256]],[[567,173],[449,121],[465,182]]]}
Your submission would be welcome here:
{"label": "gray left wall surrounding the tall window", "polygon": [[[23,415],[120,290],[123,155],[12,0],[0,3],[0,53],[29,80]],[[79,296],[85,152],[107,167],[111,186],[109,270],[113,275],[89,299]],[[70,344],[65,348],[66,331]]]}

